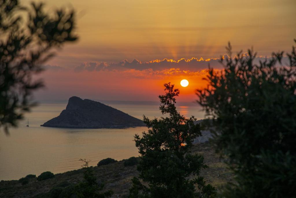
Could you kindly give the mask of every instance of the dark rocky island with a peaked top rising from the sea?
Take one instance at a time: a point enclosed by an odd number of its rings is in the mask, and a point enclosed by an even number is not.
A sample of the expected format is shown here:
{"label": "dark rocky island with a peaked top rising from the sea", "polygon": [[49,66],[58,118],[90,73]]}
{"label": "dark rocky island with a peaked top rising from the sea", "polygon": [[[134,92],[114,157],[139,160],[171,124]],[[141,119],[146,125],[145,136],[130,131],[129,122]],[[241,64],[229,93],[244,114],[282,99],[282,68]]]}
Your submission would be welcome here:
{"label": "dark rocky island with a peaked top rising from the sea", "polygon": [[73,96],[56,118],[41,126],[61,128],[127,128],[145,126],[144,122],[115,108],[89,99]]}

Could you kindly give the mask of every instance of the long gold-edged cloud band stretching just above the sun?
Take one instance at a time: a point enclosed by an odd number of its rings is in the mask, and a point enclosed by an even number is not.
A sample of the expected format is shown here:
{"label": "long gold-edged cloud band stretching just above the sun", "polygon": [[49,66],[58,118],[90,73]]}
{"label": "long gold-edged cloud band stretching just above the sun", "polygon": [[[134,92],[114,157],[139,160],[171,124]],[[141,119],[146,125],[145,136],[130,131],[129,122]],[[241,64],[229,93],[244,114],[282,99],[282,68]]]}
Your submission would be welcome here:
{"label": "long gold-edged cloud band stretching just above the sun", "polygon": [[[244,56],[248,56],[244,54]],[[228,58],[227,55],[222,56],[223,58]],[[198,72],[205,70],[210,65],[214,69],[223,69],[223,65],[219,62],[221,58],[191,58],[180,60],[172,60],[164,58],[163,60],[152,60],[147,62],[141,62],[137,59],[133,61],[123,60],[118,63],[107,63],[107,62],[84,62],[81,65],[74,68],[75,72],[82,71],[113,71],[122,72],[123,74],[134,74],[137,77],[145,75],[196,75]],[[255,58],[254,63],[258,64],[260,61],[268,60],[267,56],[258,56]],[[288,64],[288,57],[283,57],[282,64]],[[65,68],[60,66],[50,66],[46,65],[46,69],[53,71],[65,70]],[[71,69],[69,69],[71,70]]]}

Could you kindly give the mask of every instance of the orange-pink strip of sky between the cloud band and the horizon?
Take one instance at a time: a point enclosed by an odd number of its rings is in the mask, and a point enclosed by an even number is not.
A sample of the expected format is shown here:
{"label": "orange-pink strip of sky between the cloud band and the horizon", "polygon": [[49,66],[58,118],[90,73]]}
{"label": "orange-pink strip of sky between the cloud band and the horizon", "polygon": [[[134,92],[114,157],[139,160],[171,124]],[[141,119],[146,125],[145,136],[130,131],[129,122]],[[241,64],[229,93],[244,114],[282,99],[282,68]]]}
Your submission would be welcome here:
{"label": "orange-pink strip of sky between the cloud band and the horizon", "polygon": [[[70,96],[100,100],[157,101],[163,94],[163,83],[171,82],[180,89],[178,101],[196,100],[195,89],[204,86],[202,77],[205,71],[193,75],[162,75],[154,77],[136,77],[136,71],[128,70],[75,72],[46,71],[39,75],[45,81],[46,88],[38,91],[36,96],[41,101],[50,99],[67,99]],[[140,72],[142,73],[142,72]],[[189,85],[182,87],[180,81],[187,79]]]}

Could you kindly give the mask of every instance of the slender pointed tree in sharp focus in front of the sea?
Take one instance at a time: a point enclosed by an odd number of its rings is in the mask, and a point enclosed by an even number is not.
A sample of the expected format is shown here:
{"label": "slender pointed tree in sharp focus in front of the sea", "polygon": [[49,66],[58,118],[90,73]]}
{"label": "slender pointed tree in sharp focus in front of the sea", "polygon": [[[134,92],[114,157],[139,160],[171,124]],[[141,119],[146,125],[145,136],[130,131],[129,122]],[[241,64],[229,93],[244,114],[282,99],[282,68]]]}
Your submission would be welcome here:
{"label": "slender pointed tree in sharp focus in front of the sea", "polygon": [[201,136],[201,126],[194,123],[194,116],[187,119],[176,110],[179,90],[170,83],[164,86],[160,110],[169,117],[149,120],[144,116],[148,132],[134,136],[140,153],[140,175],[132,180],[130,197],[212,197],[215,189],[199,176],[207,167],[203,156],[190,153],[194,138]]}

